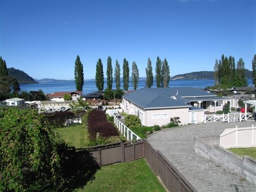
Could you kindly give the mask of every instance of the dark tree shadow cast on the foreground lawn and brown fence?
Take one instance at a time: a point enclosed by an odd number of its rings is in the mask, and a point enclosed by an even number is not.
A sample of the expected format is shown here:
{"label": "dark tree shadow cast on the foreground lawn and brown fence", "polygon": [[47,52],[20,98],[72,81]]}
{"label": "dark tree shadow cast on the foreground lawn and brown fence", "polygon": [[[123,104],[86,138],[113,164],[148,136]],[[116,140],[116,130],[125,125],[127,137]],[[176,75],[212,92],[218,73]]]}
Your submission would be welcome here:
{"label": "dark tree shadow cast on the foreground lawn and brown fence", "polygon": [[60,150],[63,179],[53,186],[50,182],[37,182],[33,191],[74,191],[83,188],[88,182],[95,179],[94,175],[100,166],[88,151],[74,149]]}

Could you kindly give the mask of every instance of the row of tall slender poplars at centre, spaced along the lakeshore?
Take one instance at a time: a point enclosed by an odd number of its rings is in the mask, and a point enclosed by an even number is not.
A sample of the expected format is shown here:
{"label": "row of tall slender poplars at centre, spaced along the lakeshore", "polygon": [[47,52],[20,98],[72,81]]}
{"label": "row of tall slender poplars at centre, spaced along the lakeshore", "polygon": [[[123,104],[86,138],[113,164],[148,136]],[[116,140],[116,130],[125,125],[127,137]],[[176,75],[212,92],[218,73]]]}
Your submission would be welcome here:
{"label": "row of tall slender poplars at centre, spaced along the lakeshore", "polygon": [[[153,86],[153,68],[152,68],[152,62],[150,58],[148,58],[147,68],[146,70],[146,86],[148,88]],[[130,68],[129,68],[129,62],[124,58],[123,62],[123,81],[124,81],[124,90],[127,91],[129,89],[129,76],[130,74]],[[113,86],[113,67],[112,67],[112,60],[111,57],[108,57],[107,60],[107,90],[112,90]],[[140,79],[140,73],[137,66],[137,63],[135,61],[132,62],[132,86],[134,90],[137,90],[138,88],[138,82]],[[116,82],[116,90],[120,90],[120,78],[121,78],[121,70],[120,70],[120,64],[118,60],[116,60],[115,63],[115,69],[114,69],[114,78]],[[80,61],[79,56],[76,58],[75,63],[75,80],[76,80],[76,88],[78,91],[83,91],[83,64]],[[170,67],[168,65],[168,61],[164,59],[162,62],[159,57],[157,57],[156,61],[156,83],[157,87],[168,87],[170,81]],[[96,74],[95,74],[95,83],[99,91],[102,91],[104,89],[104,71],[103,71],[103,64],[102,60],[99,58],[96,65]]]}

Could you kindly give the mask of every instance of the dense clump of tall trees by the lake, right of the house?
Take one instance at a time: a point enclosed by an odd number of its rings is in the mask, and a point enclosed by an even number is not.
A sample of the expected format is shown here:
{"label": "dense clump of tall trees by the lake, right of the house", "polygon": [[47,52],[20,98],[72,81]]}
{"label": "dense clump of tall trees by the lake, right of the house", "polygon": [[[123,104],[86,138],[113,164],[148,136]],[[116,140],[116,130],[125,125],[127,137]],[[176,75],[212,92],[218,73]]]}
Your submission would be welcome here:
{"label": "dense clump of tall trees by the lake, right of the house", "polygon": [[233,56],[224,56],[221,60],[216,60],[214,65],[215,85],[218,86],[248,86],[245,76],[244,61],[242,58],[235,63]]}

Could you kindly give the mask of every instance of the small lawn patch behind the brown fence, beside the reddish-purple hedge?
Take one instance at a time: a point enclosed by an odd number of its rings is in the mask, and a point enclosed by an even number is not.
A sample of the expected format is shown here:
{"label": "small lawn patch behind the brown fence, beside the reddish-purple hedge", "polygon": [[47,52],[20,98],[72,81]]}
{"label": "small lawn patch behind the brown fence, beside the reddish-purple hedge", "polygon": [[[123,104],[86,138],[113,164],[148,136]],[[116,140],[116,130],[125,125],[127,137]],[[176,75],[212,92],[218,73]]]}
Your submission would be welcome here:
{"label": "small lawn patch behind the brown fence, beside the reddish-purple hedge", "polygon": [[68,143],[70,147],[85,147],[88,142],[88,131],[82,125],[58,128],[61,138]]}

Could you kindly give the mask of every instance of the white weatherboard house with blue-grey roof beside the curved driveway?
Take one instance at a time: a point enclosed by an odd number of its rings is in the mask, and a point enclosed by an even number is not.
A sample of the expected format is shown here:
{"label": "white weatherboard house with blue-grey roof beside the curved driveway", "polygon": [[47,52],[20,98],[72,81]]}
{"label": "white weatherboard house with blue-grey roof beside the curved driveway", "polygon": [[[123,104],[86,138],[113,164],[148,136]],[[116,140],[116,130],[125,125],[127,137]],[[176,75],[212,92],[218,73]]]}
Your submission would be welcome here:
{"label": "white weatherboard house with blue-grey roof beside the curved driveway", "polygon": [[124,95],[121,106],[145,126],[166,125],[175,116],[181,124],[198,124],[204,122],[205,111],[221,111],[228,100],[191,87],[142,88]]}

